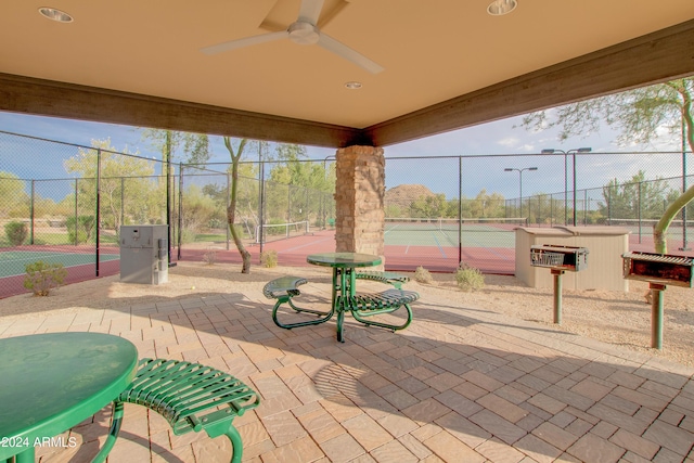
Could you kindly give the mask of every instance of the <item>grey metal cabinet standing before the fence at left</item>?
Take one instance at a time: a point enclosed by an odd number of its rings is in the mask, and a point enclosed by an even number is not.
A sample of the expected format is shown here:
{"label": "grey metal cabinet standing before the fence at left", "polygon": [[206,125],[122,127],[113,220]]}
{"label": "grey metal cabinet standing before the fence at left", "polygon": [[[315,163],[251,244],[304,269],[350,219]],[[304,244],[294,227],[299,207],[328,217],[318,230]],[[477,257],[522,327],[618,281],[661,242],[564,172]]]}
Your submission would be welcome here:
{"label": "grey metal cabinet standing before the fence at left", "polygon": [[169,279],[168,226],[120,227],[120,281],[162,284]]}

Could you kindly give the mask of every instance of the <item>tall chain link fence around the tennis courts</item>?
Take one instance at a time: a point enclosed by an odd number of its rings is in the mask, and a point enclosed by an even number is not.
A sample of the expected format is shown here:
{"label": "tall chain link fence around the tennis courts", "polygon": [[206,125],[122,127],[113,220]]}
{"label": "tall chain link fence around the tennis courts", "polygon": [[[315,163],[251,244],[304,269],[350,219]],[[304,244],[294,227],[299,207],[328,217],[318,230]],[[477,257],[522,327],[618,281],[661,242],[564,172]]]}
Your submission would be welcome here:
{"label": "tall chain link fence around the tennis courts", "polygon": [[[624,227],[632,248],[653,250],[655,221],[694,181],[683,175],[690,156],[386,156],[386,267],[453,271],[462,261],[513,273],[519,226]],[[241,163],[235,230],[256,262],[265,248],[280,254],[280,265],[334,250],[334,159],[294,163],[305,168],[290,175],[287,162]],[[116,274],[121,224],[168,223],[170,260],[205,260],[219,252],[220,261],[240,261],[227,227],[230,172],[224,163],[167,169],[104,143],[0,131],[0,297],[25,292],[25,266],[37,260],[63,263],[67,282]],[[299,178],[304,184],[293,183]],[[683,210],[686,217],[693,207]],[[686,217],[668,232],[676,253],[689,253]]]}

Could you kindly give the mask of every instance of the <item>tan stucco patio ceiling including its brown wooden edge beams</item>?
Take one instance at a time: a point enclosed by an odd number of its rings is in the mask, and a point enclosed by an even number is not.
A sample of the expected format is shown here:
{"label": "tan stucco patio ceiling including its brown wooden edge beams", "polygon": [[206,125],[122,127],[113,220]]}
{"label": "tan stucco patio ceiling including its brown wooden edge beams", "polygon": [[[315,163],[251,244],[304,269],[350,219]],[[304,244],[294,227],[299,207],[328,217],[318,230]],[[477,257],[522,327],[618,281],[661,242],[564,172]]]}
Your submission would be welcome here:
{"label": "tan stucco patio ceiling including its brown wooden edge beams", "polygon": [[372,74],[291,40],[201,51],[288,27],[300,0],[8,0],[0,110],[387,145],[694,75],[692,0],[517,0],[503,16],[490,1],[325,0],[321,31],[383,66]]}

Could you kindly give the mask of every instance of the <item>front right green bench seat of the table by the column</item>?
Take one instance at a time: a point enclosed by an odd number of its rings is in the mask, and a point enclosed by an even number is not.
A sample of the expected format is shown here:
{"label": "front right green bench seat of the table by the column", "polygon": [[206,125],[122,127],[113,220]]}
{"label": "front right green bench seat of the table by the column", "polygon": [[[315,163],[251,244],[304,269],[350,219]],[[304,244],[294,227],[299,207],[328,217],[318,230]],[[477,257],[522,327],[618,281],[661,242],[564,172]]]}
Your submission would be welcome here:
{"label": "front right green bench seat of the table by the column", "polygon": [[[410,304],[420,298],[420,295],[413,291],[404,290],[386,290],[375,294],[356,294],[354,296],[337,296],[339,299],[346,297],[346,306],[356,320],[365,325],[381,326],[388,330],[404,330],[412,322],[412,309]],[[339,300],[342,304],[343,300]],[[382,313],[391,313],[399,308],[404,307],[407,318],[404,323],[395,325],[374,320],[365,320],[367,317],[377,316]]]}

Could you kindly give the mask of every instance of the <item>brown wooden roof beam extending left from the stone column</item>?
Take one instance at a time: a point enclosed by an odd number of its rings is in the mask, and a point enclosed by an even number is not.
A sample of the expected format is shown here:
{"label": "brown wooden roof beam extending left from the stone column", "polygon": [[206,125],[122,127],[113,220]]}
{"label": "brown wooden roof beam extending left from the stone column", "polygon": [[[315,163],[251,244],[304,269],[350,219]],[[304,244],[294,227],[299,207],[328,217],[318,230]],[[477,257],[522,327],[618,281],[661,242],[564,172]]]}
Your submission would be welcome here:
{"label": "brown wooden roof beam extending left from the stone column", "polygon": [[0,111],[314,146],[371,144],[349,127],[1,73]]}

